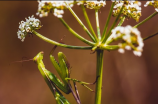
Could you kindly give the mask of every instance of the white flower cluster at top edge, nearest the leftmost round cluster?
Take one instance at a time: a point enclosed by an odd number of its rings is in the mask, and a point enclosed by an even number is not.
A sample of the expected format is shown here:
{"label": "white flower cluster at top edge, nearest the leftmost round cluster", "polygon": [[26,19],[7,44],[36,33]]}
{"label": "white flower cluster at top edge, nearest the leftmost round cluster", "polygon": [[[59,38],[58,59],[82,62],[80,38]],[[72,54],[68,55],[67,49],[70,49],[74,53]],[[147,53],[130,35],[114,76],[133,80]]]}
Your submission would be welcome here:
{"label": "white flower cluster at top edge, nearest the leftmost round cluster", "polygon": [[48,16],[48,13],[54,12],[53,14],[62,18],[64,14],[64,9],[68,6],[72,7],[74,1],[38,1],[38,12],[36,13],[39,17]]}

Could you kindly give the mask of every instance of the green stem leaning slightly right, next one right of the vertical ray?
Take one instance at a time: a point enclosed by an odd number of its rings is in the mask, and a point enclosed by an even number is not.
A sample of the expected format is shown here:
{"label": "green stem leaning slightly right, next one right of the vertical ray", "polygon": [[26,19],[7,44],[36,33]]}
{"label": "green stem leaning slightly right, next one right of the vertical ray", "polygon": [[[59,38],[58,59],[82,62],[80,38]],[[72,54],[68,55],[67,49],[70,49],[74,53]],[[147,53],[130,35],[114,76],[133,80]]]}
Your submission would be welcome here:
{"label": "green stem leaning slightly right, next one right of the vertical ray", "polygon": [[104,30],[103,30],[103,33],[102,33],[102,40],[105,38],[105,34],[106,34],[106,31],[107,31],[107,28],[108,28],[108,25],[109,25],[109,22],[110,22],[110,17],[111,17],[111,14],[112,14],[114,4],[115,4],[115,2],[112,3],[111,8],[110,8],[109,15],[108,15],[108,18],[107,18],[107,21],[106,21],[106,24],[105,24],[105,27],[104,27]]}

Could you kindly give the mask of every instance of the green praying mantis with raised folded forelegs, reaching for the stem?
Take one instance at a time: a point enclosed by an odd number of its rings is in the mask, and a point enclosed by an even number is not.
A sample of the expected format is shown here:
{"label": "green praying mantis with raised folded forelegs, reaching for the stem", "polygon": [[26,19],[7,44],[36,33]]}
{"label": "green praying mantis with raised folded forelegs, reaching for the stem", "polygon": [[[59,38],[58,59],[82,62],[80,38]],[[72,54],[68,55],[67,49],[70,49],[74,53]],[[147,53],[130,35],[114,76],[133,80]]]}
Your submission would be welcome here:
{"label": "green praying mantis with raised folded forelegs, reaching for the stem", "polygon": [[[66,94],[72,93],[77,103],[81,104],[76,82],[79,82],[81,85],[88,88],[90,91],[93,91],[86,85],[95,84],[96,81],[94,83],[86,83],[86,82],[82,82],[82,81],[70,78],[70,64],[66,56],[64,55],[64,53],[62,52],[58,53],[58,60],[59,60],[58,62],[55,60],[54,56],[52,56],[52,53],[54,52],[56,47],[57,46],[54,46],[50,53],[50,60],[53,66],[55,67],[55,69],[57,70],[63,83],[53,73],[51,73],[45,68],[45,65],[42,61],[44,52],[39,52],[33,58],[33,61],[37,64],[38,69],[40,73],[42,74],[44,80],[46,81],[47,85],[49,86],[50,90],[52,91],[57,104],[70,104],[69,101],[59,91],[59,89]],[[72,90],[70,80],[73,81],[75,92]]]}

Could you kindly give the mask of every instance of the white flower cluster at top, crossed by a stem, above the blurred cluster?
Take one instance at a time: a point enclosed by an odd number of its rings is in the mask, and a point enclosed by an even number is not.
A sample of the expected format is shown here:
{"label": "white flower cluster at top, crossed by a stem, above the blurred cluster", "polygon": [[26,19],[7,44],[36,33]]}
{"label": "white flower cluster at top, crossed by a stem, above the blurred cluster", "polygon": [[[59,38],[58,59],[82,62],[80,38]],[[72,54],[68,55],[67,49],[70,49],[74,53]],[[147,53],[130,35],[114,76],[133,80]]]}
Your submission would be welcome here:
{"label": "white flower cluster at top, crossed by a stem, above the blurred cluster", "polygon": [[[114,2],[114,1],[113,1]],[[139,18],[141,16],[141,2],[139,1],[122,1],[122,0],[116,0],[115,6],[113,10],[113,15],[117,16],[124,5],[122,14],[126,16],[127,18],[133,18],[137,22],[139,21]]]}

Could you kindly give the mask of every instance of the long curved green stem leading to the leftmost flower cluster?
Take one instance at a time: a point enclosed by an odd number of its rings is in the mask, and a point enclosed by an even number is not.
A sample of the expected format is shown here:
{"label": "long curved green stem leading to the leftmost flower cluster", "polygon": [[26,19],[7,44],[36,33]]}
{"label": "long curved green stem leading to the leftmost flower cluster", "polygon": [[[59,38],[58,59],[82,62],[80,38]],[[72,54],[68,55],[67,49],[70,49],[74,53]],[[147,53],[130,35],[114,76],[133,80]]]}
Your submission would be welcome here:
{"label": "long curved green stem leading to the leftmost flower cluster", "polygon": [[46,41],[50,44],[57,45],[57,46],[60,46],[60,47],[65,47],[65,48],[70,48],[70,49],[92,49],[91,46],[72,46],[72,45],[66,45],[66,44],[58,43],[56,41],[53,41],[53,40],[39,34],[36,31],[33,31],[32,33],[35,34],[36,36],[38,36],[40,39],[42,39],[42,40],[44,40],[44,41]]}

